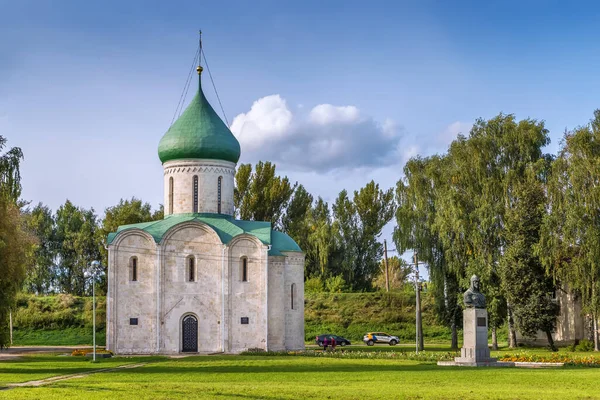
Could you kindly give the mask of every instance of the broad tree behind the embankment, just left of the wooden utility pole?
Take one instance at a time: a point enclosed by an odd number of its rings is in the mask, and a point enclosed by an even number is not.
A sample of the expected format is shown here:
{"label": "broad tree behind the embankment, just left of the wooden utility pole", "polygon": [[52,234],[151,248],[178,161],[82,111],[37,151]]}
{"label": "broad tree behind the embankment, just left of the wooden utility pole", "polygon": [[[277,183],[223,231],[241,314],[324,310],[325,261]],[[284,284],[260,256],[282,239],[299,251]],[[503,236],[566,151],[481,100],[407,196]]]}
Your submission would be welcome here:
{"label": "broad tree behind the embankment, just left of the wooden utility pole", "polygon": [[334,206],[333,229],[339,238],[338,271],[354,291],[371,289],[383,256],[383,244],[378,242],[381,230],[395,211],[392,189],[383,191],[374,181],[354,192],[353,200],[343,190]]}

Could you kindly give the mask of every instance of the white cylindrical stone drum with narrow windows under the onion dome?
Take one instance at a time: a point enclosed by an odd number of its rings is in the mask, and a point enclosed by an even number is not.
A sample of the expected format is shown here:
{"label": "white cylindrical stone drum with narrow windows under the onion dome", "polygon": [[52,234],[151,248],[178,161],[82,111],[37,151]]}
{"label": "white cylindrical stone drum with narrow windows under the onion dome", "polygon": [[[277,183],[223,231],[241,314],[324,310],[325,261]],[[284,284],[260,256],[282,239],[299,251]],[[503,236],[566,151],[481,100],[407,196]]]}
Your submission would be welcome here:
{"label": "white cylindrical stone drum with narrow windows under the onion dome", "polygon": [[235,164],[219,160],[167,161],[164,167],[165,215],[169,212],[169,181],[173,178],[173,214],[194,212],[193,183],[198,176],[198,212],[218,213],[218,179],[221,181],[221,214],[233,215]]}

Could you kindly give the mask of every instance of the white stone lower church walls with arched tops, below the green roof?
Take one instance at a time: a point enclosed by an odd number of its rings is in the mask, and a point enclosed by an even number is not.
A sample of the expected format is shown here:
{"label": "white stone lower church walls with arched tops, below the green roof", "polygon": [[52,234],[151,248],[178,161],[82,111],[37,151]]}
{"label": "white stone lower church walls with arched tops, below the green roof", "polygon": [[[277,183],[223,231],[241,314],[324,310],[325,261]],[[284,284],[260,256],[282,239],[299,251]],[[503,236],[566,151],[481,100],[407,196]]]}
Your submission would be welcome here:
{"label": "white stone lower church walls with arched tops, below the green roof", "polygon": [[[238,236],[225,247],[199,222],[177,225],[159,245],[141,230],[121,232],[109,246],[108,349],[117,354],[178,354],[187,315],[198,320],[201,353],[303,349],[304,256],[290,252],[269,257],[267,252],[250,235]],[[132,257],[137,257],[136,281]],[[190,257],[195,260],[193,281]],[[247,281],[242,279],[244,258]]]}

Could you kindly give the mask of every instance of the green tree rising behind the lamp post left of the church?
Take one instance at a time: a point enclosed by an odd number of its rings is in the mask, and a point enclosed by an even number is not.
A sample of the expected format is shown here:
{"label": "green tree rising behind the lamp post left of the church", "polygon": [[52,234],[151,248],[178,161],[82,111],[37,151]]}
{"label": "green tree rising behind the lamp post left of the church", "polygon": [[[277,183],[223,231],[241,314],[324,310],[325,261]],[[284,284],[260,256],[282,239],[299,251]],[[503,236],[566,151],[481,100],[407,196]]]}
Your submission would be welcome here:
{"label": "green tree rising behind the lamp post left of the church", "polygon": [[87,293],[85,272],[100,259],[98,224],[94,210],[69,200],[56,211],[57,284],[60,291],[76,296]]}

